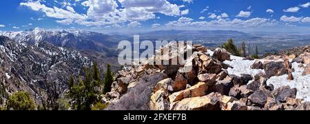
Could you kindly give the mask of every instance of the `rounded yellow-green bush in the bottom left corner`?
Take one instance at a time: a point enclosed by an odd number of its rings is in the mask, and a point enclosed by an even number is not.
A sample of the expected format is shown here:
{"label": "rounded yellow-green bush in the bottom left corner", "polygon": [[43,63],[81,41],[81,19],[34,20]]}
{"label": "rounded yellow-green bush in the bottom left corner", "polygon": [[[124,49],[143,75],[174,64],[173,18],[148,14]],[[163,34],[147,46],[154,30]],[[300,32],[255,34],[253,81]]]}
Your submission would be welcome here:
{"label": "rounded yellow-green bush in the bottom left corner", "polygon": [[8,98],[7,110],[34,110],[36,107],[28,92],[16,92]]}

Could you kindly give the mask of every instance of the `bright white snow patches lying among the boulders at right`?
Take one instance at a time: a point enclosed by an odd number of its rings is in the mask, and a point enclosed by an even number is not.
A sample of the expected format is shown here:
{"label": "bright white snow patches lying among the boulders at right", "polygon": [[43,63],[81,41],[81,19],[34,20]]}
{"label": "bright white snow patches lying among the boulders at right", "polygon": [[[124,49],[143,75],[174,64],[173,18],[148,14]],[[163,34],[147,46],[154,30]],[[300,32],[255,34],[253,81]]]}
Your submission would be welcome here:
{"label": "bright white snow patches lying among the boulders at right", "polygon": [[[210,55],[213,54],[211,50],[208,50]],[[258,72],[265,72],[265,70],[253,70],[250,66],[255,62],[242,60],[242,57],[231,56],[232,61],[225,61],[234,68],[228,68],[227,71],[229,74],[234,74],[236,76],[240,76],[240,74],[251,74],[254,76],[258,74]],[[264,63],[264,59],[257,59]],[[292,69],[295,70],[293,72],[293,81],[287,80],[287,74],[282,76],[272,76],[269,80],[267,80],[267,85],[272,84],[275,89],[278,89],[281,86],[289,85],[291,88],[296,88],[298,90],[296,99],[304,99],[304,101],[310,101],[310,75],[302,76],[302,72],[304,72],[304,68],[298,67],[299,63],[292,63]],[[251,83],[251,81],[250,81]]]}

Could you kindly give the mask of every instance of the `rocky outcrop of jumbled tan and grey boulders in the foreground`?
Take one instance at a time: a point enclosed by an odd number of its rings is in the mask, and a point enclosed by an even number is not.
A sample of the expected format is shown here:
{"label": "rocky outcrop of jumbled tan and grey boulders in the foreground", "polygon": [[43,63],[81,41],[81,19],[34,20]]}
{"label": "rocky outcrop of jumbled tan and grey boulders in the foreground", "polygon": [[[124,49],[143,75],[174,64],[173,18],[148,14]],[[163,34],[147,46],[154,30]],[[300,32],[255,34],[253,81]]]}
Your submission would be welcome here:
{"label": "rocky outcrop of jumbled tan and grey boulders in the foreground", "polygon": [[[177,44],[162,49],[174,45]],[[188,47],[183,48],[185,53]],[[298,85],[300,77],[296,77],[292,63],[303,68],[302,76],[307,76],[310,74],[309,52],[298,57],[238,61],[224,49],[211,52],[203,45],[194,45],[193,49],[185,65],[147,64],[119,71],[112,92],[102,96],[104,103],[110,103],[107,110],[310,110],[307,99],[296,98],[300,89],[287,85],[275,88],[269,81],[285,76],[282,81],[295,81],[291,83]],[[169,54],[175,52],[170,50]],[[174,57],[178,55],[155,59],[163,61]],[[242,64],[246,62],[251,65]],[[192,70],[187,72],[184,67],[192,67]],[[240,70],[249,71],[242,74]]]}

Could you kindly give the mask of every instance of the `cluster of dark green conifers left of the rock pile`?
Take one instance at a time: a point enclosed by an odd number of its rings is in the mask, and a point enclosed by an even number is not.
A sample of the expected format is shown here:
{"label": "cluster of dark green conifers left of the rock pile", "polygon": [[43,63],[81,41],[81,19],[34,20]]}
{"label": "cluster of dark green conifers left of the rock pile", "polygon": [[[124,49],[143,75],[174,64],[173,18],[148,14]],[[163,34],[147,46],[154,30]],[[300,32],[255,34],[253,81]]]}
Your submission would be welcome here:
{"label": "cluster of dark green conifers left of the rock pile", "polygon": [[[105,84],[101,79],[101,72],[97,63],[92,68],[84,68],[85,76],[77,78],[77,82],[71,77],[69,81],[69,98],[72,100],[72,109],[74,110],[93,110],[95,108],[103,108],[100,104],[99,96],[105,92],[110,92],[111,81],[113,81],[110,65],[107,65],[105,74]],[[103,92],[101,89],[104,89]],[[93,107],[94,105],[94,107]]]}

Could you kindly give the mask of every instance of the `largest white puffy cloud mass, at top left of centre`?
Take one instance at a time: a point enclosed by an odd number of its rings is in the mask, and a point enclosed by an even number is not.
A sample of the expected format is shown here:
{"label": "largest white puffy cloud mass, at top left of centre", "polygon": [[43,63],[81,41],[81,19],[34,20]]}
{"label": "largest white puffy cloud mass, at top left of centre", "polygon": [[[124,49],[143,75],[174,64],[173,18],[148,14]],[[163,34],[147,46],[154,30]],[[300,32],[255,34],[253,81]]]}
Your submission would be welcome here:
{"label": "largest white puffy cloud mass, at top left of centre", "polygon": [[76,3],[84,6],[87,13],[77,13],[72,8],[74,5],[68,2],[61,3],[63,8],[45,6],[44,1],[27,1],[20,5],[43,12],[46,17],[57,19],[57,23],[64,25],[77,23],[96,27],[156,19],[155,13],[167,16],[181,16],[189,13],[189,10],[181,9],[185,6],[178,6],[167,0],[118,0],[118,2],[116,0],[77,0]]}

